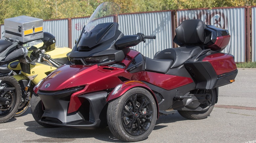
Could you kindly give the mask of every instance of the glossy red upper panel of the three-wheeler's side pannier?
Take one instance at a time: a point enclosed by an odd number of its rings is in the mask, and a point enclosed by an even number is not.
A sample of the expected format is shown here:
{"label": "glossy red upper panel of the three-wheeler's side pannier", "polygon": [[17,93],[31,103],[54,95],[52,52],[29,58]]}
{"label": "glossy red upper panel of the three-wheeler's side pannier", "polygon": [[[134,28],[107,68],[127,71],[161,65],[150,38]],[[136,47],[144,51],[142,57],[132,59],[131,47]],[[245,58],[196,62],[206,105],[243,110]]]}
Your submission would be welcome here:
{"label": "glossy red upper panel of the three-wheeler's side pannier", "polygon": [[202,61],[210,62],[217,75],[235,71],[237,69],[233,56],[224,53],[216,53],[206,56]]}

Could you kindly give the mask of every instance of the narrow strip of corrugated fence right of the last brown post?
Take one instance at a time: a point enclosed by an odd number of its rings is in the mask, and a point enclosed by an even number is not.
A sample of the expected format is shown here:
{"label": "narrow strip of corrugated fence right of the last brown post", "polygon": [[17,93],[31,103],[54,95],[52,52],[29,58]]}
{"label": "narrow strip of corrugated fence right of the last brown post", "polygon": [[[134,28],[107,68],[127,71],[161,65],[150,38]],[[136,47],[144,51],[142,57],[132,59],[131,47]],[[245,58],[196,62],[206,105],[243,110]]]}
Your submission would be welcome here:
{"label": "narrow strip of corrugated fence right of the last brown post", "polygon": [[251,8],[251,60],[256,62],[256,7]]}

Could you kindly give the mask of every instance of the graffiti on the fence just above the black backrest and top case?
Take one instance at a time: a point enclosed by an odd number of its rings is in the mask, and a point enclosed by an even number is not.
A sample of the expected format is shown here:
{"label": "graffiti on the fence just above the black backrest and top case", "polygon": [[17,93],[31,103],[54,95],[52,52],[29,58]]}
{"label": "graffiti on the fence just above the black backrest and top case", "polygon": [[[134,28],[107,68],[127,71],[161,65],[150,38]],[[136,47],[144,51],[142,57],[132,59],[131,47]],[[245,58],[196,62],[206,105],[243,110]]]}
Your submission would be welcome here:
{"label": "graffiti on the fence just above the black backrest and top case", "polygon": [[199,13],[196,11],[187,11],[177,18],[178,25],[186,19],[201,19],[204,24],[215,25],[224,29],[228,29],[228,19],[224,13],[214,10],[203,10]]}

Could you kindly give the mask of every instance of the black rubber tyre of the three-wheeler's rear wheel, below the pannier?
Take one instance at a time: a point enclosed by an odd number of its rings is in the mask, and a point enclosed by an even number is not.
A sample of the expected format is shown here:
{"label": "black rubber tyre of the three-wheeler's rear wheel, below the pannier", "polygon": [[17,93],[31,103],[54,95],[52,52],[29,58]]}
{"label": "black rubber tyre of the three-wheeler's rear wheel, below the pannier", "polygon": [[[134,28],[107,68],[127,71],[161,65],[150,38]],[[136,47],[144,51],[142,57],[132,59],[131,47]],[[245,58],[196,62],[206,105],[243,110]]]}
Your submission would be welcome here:
{"label": "black rubber tyre of the three-wheeler's rear wheel, below the pannier", "polygon": [[210,113],[212,112],[213,108],[214,108],[214,104],[215,104],[215,100],[216,100],[216,96],[217,96],[217,90],[216,89],[211,89],[210,93],[212,95],[211,100],[210,100],[210,105],[207,109],[203,110],[203,111],[182,111],[182,110],[178,110],[179,114],[186,118],[186,119],[205,119],[207,118]]}

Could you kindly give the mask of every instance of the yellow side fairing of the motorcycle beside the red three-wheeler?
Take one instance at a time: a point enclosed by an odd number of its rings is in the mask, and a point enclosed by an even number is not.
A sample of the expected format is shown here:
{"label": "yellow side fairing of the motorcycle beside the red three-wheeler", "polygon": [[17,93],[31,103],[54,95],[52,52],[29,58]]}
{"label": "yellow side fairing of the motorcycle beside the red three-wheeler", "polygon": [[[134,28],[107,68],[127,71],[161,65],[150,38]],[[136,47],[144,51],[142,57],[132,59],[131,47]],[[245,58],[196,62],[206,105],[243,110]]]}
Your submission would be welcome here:
{"label": "yellow side fairing of the motorcycle beside the red three-wheeler", "polygon": [[21,72],[28,78],[34,78],[31,81],[36,85],[41,79],[45,78],[50,72],[54,71],[55,67],[45,64],[36,63],[36,65],[30,65],[30,73]]}

